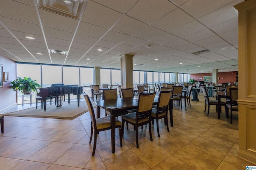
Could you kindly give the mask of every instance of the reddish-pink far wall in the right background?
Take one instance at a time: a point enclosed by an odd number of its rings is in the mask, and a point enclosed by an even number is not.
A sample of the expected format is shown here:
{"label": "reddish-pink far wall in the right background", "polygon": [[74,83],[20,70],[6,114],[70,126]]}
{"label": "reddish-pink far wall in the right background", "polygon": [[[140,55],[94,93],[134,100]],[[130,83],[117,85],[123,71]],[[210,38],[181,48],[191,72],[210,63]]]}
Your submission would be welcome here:
{"label": "reddish-pink far wall in the right background", "polygon": [[[200,74],[191,74],[191,78],[194,78],[196,81],[201,81],[199,78],[204,80],[204,76],[210,76],[211,73],[200,73]],[[224,82],[236,82],[236,71],[234,72],[218,72],[218,84],[222,84]],[[202,81],[203,81],[202,80]]]}

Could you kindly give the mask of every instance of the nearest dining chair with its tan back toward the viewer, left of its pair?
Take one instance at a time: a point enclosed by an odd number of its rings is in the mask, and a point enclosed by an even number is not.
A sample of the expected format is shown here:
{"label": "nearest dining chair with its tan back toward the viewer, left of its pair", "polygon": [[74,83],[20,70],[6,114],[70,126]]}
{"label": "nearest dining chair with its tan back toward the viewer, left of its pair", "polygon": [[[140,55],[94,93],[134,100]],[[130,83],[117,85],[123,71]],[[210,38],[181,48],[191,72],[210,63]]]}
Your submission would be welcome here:
{"label": "nearest dining chair with its tan back toward the viewer, left of its pair", "polygon": [[[137,111],[122,116],[122,128],[124,128],[124,122],[128,122],[135,126],[136,131],[136,146],[139,148],[138,142],[138,127],[148,124],[150,140],[153,141],[151,132],[151,111],[154,102],[156,92],[153,93],[140,93],[138,98]],[[127,127],[128,128],[128,127]],[[122,129],[122,137],[124,130]]]}

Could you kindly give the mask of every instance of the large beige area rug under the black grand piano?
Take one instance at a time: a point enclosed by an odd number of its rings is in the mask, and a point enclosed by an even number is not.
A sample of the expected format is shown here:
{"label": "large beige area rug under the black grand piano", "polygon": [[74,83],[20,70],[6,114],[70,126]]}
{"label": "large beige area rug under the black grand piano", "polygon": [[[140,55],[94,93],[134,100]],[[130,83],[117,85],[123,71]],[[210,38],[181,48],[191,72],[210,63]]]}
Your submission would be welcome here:
{"label": "large beige area rug under the black grand piano", "polygon": [[[92,102],[92,106],[96,107],[95,102]],[[56,105],[47,104],[46,111],[41,109],[41,105],[36,107],[23,109],[20,111],[14,111],[4,114],[5,116],[22,116],[22,117],[44,117],[44,118],[57,118],[57,119],[74,119],[83,113],[88,111],[86,102],[80,102],[80,107],[77,106],[77,102],[63,102],[62,107],[56,107]]]}

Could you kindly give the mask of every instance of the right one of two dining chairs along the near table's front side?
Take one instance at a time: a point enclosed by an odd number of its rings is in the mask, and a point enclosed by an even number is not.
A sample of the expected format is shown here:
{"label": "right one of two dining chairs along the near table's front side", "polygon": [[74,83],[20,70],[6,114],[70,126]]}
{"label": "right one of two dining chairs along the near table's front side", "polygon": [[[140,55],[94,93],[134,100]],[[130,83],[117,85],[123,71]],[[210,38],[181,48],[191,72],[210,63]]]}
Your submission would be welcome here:
{"label": "right one of two dining chairs along the near table's front side", "polygon": [[164,125],[167,127],[167,131],[169,131],[169,126],[167,122],[167,113],[168,113],[168,106],[170,103],[170,98],[172,96],[172,90],[171,91],[161,91],[158,97],[158,104],[156,108],[152,108],[151,111],[151,120],[152,125],[154,125],[154,119],[156,119],[156,128],[157,128],[157,134],[158,137],[160,137],[159,134],[159,119],[164,118]]}

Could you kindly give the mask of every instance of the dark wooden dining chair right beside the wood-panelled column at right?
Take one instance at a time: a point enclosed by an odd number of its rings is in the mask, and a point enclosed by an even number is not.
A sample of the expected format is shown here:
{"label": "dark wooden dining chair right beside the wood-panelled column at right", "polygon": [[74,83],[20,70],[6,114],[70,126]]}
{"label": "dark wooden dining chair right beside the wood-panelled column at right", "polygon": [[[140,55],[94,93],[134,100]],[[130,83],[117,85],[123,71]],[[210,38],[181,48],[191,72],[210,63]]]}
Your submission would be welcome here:
{"label": "dark wooden dining chair right beside the wood-panelled column at right", "polygon": [[226,117],[228,118],[228,110],[230,109],[230,124],[232,124],[232,112],[238,111],[238,88],[230,88],[230,103],[226,104]]}

